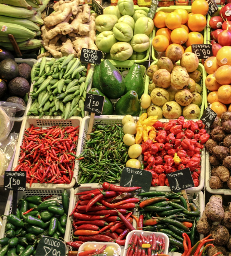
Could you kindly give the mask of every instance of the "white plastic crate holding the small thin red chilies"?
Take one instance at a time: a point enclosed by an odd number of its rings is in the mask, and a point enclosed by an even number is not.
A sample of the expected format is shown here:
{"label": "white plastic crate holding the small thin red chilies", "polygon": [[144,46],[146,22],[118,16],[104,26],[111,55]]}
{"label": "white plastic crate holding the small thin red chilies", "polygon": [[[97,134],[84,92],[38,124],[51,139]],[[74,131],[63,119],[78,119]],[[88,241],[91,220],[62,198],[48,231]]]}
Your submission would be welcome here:
{"label": "white plastic crate holding the small thin red chilies", "polygon": [[[18,140],[18,145],[16,148],[16,152],[15,152],[15,156],[14,156],[14,162],[13,162],[13,168],[12,170],[14,170],[14,168],[18,165],[18,161],[19,161],[19,155],[20,155],[20,151],[21,151],[21,145],[22,145],[22,141],[23,141],[23,136],[24,136],[24,132],[25,130],[30,127],[31,124],[33,124],[34,127],[42,127],[43,129],[49,126],[58,126],[58,125],[62,125],[62,126],[80,126],[82,121],[81,117],[71,117],[70,119],[64,120],[61,119],[61,117],[58,116],[53,116],[53,117],[46,117],[43,116],[41,119],[38,119],[38,117],[36,116],[29,116],[26,119],[24,119],[24,121],[22,122],[21,125],[21,129],[20,129],[20,133],[19,133],[19,140]],[[76,150],[76,155],[78,156],[80,154],[80,149],[79,149],[79,141],[77,144],[77,150]],[[74,173],[73,173],[73,178],[71,180],[70,184],[47,184],[47,183],[33,183],[30,187],[29,184],[26,184],[26,189],[68,189],[71,188],[75,185],[75,180],[77,179],[77,175],[78,175],[78,165],[77,165],[77,161],[75,161],[75,167],[74,167]]]}

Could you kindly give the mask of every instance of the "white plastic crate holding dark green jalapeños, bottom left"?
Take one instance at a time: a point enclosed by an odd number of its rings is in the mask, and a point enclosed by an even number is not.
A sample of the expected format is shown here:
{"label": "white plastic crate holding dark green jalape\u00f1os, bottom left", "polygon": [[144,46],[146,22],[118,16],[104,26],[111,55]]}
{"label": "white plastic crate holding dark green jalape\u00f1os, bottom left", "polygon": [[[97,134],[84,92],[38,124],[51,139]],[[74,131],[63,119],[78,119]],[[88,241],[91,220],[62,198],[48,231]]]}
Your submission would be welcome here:
{"label": "white plastic crate holding dark green jalape\u00f1os, bottom left", "polygon": [[[61,193],[64,191],[64,189],[50,189],[50,190],[26,190],[26,191],[19,191],[18,192],[18,200],[21,199],[24,196],[40,196],[40,197],[47,197],[50,195],[54,195],[54,196],[59,196],[61,195]],[[66,232],[64,234],[64,240],[67,241],[67,237],[68,234],[70,233],[71,230],[71,219],[69,217],[71,211],[73,210],[74,207],[74,189],[66,189],[66,192],[69,194],[70,197],[70,203],[69,203],[69,209],[68,209],[68,215],[67,215],[67,223],[66,223]],[[13,200],[13,191],[10,191],[9,193],[9,197],[7,199],[7,204],[6,204],[6,208],[5,208],[5,212],[4,215],[9,215],[12,211],[12,200]],[[7,217],[4,216],[3,217],[3,221],[2,221],[2,228],[0,231],[0,238],[5,237],[5,226],[7,223]]]}

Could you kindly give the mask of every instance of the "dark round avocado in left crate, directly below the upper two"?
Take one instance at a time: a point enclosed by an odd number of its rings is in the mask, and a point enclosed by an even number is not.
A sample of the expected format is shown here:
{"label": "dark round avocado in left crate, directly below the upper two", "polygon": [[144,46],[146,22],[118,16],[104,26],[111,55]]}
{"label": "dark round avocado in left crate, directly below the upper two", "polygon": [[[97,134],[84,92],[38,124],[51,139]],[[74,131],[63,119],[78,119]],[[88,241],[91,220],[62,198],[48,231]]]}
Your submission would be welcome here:
{"label": "dark round avocado in left crate, directly below the upper two", "polygon": [[9,82],[9,92],[18,97],[24,97],[30,91],[28,81],[23,77],[16,77]]}

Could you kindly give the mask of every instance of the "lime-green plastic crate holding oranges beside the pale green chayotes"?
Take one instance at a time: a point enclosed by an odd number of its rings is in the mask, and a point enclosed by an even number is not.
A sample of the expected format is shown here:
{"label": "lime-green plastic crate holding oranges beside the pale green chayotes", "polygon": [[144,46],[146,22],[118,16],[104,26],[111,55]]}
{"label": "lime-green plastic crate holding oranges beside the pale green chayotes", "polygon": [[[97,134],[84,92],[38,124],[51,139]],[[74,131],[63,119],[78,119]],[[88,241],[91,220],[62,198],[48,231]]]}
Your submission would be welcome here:
{"label": "lime-green plastic crate holding oranges beside the pale green chayotes", "polygon": [[[158,12],[174,12],[174,10],[176,9],[185,9],[188,13],[192,12],[192,7],[191,6],[178,6],[178,5],[172,5],[172,6],[169,6],[169,7],[160,7],[158,8]],[[152,38],[154,38],[156,36],[156,31],[157,31],[157,28],[154,26],[154,29],[153,29],[153,33],[152,33]],[[203,37],[204,37],[204,44],[206,44],[207,42],[207,29],[205,28],[204,31],[200,32]],[[151,51],[151,57],[153,60],[157,60],[157,52],[156,50],[154,50],[153,46],[152,47],[152,51]]]}

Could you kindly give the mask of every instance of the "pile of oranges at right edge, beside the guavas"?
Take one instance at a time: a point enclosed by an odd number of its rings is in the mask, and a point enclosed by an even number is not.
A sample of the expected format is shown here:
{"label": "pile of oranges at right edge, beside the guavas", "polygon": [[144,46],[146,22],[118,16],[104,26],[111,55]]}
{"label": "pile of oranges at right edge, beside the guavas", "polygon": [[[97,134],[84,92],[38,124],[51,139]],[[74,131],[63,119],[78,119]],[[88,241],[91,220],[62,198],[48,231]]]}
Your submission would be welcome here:
{"label": "pile of oranges at right edge, beside the guavas", "polygon": [[231,46],[223,46],[216,57],[205,60],[205,79],[207,102],[218,116],[225,111],[231,111]]}

